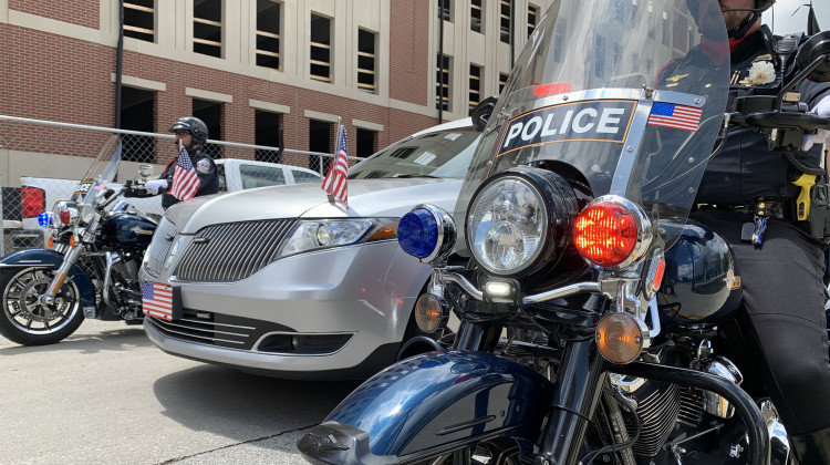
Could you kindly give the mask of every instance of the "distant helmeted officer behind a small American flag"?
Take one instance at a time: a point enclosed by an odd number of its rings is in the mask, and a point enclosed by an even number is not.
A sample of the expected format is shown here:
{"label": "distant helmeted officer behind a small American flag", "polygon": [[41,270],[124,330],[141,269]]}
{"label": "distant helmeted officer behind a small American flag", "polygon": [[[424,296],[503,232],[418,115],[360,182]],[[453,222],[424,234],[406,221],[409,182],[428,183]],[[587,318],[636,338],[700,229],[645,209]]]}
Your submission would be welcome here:
{"label": "distant helmeted officer behind a small American flag", "polygon": [[[169,131],[176,134],[177,147],[181,144],[187,149],[190,163],[199,177],[200,187],[196,192],[196,196],[219,193],[219,177],[216,173],[216,164],[201,151],[201,146],[208,137],[207,125],[198,117],[184,116],[178,118]],[[148,180],[144,185],[151,194],[162,194],[162,206],[165,209],[179,202],[178,198],[168,193],[173,186],[173,174],[177,159],[178,156],[167,164],[158,179]]]}

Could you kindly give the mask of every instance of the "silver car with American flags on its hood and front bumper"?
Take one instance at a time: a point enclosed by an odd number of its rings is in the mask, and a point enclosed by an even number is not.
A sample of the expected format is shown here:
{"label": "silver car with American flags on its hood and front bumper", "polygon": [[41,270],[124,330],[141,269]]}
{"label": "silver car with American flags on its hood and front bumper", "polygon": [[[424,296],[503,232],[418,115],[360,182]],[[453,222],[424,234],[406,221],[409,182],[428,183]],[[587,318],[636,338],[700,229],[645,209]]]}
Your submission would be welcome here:
{"label": "silver car with American flags on its hood and front bumper", "polygon": [[350,169],[349,208],[317,184],[169,208],[142,277],[170,291],[170,309],[145,318],[147,335],[173,355],[288,379],[391,364],[424,335],[413,308],[430,275],[398,248],[397,221],[421,203],[453,209],[478,135],[467,118],[384,148]]}

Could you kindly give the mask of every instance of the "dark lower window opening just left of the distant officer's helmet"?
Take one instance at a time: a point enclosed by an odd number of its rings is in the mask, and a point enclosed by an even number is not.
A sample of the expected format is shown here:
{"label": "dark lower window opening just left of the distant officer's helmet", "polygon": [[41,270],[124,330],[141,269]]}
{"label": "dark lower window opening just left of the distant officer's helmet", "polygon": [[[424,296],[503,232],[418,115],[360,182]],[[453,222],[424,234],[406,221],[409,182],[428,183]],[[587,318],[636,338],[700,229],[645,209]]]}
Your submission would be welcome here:
{"label": "dark lower window opening just left of the distant officer's helmet", "polygon": [[[143,89],[121,87],[121,128],[152,133],[156,114],[156,92]],[[166,123],[166,122],[165,122]],[[169,127],[166,126],[165,130]],[[125,162],[155,163],[156,144],[152,136],[124,134],[123,159]],[[170,147],[164,145],[164,147]],[[167,152],[173,153],[170,147]]]}

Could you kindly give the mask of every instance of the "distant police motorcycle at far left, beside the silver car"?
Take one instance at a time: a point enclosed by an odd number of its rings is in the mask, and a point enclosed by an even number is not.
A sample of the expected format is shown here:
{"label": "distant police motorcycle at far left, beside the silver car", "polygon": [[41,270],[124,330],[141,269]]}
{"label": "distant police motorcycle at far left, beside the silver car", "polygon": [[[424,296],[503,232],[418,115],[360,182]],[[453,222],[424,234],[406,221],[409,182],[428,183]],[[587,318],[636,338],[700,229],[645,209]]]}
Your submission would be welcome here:
{"label": "distant police motorcycle at far left, beside the silver car", "polygon": [[136,211],[125,196],[146,194],[136,179],[113,184],[122,144],[111,136],[69,200],[38,217],[48,249],[20,250],[0,259],[0,334],[22,345],[44,345],[72,334],[84,318],[143,320],[138,268],[157,220]]}

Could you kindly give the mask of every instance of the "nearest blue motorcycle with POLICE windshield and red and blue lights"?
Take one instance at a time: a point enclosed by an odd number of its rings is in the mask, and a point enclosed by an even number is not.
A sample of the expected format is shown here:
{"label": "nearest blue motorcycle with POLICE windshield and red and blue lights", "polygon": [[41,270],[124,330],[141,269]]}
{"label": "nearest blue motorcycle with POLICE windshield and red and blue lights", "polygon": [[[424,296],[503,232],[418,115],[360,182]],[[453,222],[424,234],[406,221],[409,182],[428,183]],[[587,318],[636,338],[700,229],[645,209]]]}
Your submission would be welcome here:
{"label": "nearest blue motorcycle with POLICE windshield and red and blue lights", "polygon": [[[775,405],[741,389],[755,374],[726,355],[748,349],[719,332],[734,324],[740,271],[688,215],[729,127],[800,141],[830,126],[803,108],[784,122],[791,108],[775,102],[725,114],[729,53],[712,3],[695,50],[685,35],[697,11],[683,0],[634,17],[600,0],[550,7],[455,211],[419,205],[400,223],[402,249],[433,267],[421,328],[450,312],[460,327],[355,389],[298,442],[305,461],[787,463]],[[666,21],[649,22],[661,11]],[[673,50],[655,43],[662,25]],[[657,87],[651,59],[684,65]]]}

